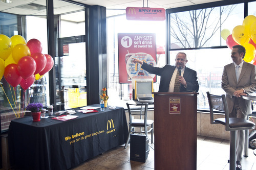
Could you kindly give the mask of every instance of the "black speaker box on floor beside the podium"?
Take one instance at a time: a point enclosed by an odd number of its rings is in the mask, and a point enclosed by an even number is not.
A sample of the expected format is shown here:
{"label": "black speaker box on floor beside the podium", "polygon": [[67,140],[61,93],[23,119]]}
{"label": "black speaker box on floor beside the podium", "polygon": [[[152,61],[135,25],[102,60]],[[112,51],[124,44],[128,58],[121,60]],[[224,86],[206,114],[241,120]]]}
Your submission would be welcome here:
{"label": "black speaker box on floor beside the podium", "polygon": [[130,159],[138,162],[145,162],[150,148],[149,139],[146,135],[131,134],[130,137]]}

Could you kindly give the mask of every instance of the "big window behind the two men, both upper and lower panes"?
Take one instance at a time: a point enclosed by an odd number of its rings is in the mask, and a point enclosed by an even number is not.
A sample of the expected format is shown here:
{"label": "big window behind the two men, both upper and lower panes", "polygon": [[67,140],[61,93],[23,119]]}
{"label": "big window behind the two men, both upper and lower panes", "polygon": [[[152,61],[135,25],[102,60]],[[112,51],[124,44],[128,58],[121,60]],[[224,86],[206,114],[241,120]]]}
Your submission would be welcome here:
{"label": "big window behind the two men, both upper and lower panes", "polygon": [[232,34],[234,27],[242,25],[243,9],[244,4],[236,4],[169,14],[170,64],[175,64],[178,52],[187,54],[186,66],[198,74],[199,110],[209,109],[206,91],[225,93],[221,88],[223,67],[232,60],[221,31],[227,29]]}

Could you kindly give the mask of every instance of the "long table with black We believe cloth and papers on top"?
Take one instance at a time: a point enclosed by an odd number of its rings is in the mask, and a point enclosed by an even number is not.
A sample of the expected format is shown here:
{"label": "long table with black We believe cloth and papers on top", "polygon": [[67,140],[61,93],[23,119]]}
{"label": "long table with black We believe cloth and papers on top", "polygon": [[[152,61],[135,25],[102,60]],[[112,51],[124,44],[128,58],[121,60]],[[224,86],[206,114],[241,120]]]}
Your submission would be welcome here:
{"label": "long table with black We believe cloth and papers on top", "polygon": [[108,108],[76,112],[77,118],[65,122],[50,117],[32,122],[32,116],[12,120],[8,135],[11,165],[17,169],[69,169],[124,144],[128,134],[124,109]]}

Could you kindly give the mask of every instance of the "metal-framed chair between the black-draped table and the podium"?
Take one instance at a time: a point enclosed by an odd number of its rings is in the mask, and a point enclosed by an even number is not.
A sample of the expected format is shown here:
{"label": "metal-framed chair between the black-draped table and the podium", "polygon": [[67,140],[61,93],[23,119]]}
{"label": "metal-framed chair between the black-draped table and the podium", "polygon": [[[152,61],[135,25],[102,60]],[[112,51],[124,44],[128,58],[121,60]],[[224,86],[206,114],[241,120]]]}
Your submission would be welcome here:
{"label": "metal-framed chair between the black-draped table and the podium", "polygon": [[[154,120],[150,120],[147,119],[147,107],[148,104],[147,103],[140,103],[140,104],[129,104],[126,103],[127,105],[127,109],[129,112],[129,133],[128,133],[128,137],[126,140],[126,143],[124,145],[124,148],[126,149],[127,144],[129,143],[130,140],[130,135],[131,133],[139,133],[139,134],[145,134],[146,138],[147,138],[147,133],[151,132],[151,143],[153,143],[153,123]],[[140,112],[136,111],[136,112],[132,112],[130,105],[134,105],[134,106],[141,106],[140,107]],[[144,107],[144,111],[143,111],[143,107]],[[140,118],[132,118],[132,116],[139,116]],[[147,127],[150,127],[150,129],[147,129]],[[134,128],[141,128],[140,132],[136,132]],[[144,128],[144,131],[142,130]]]}

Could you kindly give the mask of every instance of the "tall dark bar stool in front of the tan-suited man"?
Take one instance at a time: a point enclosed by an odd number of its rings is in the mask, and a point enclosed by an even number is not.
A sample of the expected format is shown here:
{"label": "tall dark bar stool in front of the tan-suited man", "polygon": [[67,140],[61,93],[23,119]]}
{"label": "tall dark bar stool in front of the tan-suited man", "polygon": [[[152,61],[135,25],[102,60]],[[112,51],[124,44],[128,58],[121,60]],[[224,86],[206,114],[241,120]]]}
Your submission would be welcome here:
{"label": "tall dark bar stool in front of the tan-suited man", "polygon": [[[229,169],[236,169],[236,131],[253,129],[255,124],[249,120],[237,117],[230,117],[228,113],[227,101],[225,95],[214,95],[208,91],[207,98],[210,107],[210,124],[222,124],[226,127],[226,131],[230,131],[229,140]],[[214,119],[214,109],[225,112],[225,118]]]}

